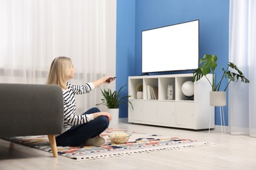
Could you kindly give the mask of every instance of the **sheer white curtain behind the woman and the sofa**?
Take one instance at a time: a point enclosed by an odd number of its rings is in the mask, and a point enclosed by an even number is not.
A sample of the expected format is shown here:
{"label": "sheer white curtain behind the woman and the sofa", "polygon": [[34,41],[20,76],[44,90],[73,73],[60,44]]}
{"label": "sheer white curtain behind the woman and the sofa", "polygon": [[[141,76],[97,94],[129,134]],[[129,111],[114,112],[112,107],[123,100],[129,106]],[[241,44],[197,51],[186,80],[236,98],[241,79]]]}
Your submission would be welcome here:
{"label": "sheer white curtain behind the woman and the sofa", "polygon": [[72,58],[77,84],[115,75],[116,0],[0,0],[0,25],[0,83],[45,84],[57,56]]}

